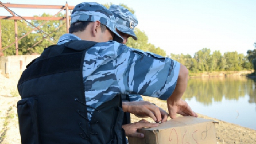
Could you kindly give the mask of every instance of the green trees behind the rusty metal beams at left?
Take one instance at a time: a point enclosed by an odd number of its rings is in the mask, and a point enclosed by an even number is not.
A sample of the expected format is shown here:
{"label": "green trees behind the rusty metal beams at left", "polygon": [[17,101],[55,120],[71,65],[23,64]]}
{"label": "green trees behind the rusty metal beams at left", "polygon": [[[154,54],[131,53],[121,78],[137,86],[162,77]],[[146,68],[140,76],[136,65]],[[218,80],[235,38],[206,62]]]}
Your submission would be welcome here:
{"label": "green trees behind the rusty metal beams at left", "polygon": [[[43,17],[50,17],[50,14],[42,14]],[[58,14],[58,17],[64,17],[63,14]],[[45,21],[32,20],[31,23],[34,26],[39,26]],[[18,38],[24,36],[30,32],[34,26],[27,23],[24,20],[17,21]],[[60,26],[60,28],[58,28]],[[45,25],[41,26],[40,31],[38,29],[27,34],[24,38],[18,41],[18,53],[19,55],[37,53],[41,54],[43,49],[57,43],[59,37],[66,33],[66,25],[64,21],[48,21]],[[2,29],[2,47],[5,48],[11,43],[15,42],[14,20],[1,20]],[[45,33],[44,33],[45,32]],[[47,36],[49,35],[49,36]],[[42,40],[42,41],[41,41]],[[50,42],[52,40],[53,42]],[[35,44],[39,42],[36,46]],[[35,46],[35,47],[34,47]],[[15,44],[4,50],[4,55],[15,55]]]}

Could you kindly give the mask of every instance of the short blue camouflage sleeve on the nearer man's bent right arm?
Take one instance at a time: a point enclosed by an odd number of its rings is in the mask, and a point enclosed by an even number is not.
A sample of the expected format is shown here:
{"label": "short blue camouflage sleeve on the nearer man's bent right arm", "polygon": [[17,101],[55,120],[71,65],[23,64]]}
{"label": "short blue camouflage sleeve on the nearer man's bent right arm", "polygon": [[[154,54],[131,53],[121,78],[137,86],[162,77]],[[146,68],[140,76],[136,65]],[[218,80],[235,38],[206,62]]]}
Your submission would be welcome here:
{"label": "short blue camouflage sleeve on the nearer man's bent right arm", "polygon": [[170,58],[114,44],[113,61],[123,94],[139,94],[166,100],[175,89],[180,63]]}

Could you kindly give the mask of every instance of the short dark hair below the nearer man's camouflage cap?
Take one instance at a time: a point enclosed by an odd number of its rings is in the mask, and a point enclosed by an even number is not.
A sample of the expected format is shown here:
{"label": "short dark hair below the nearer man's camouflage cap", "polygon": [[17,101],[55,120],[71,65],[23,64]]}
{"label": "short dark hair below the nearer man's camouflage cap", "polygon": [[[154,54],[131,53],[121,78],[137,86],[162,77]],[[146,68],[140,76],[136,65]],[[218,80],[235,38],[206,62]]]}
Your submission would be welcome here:
{"label": "short dark hair below the nearer man's camouflage cap", "polygon": [[[90,22],[91,21],[78,21],[78,22],[71,24],[71,26],[69,28],[69,33],[84,31]],[[102,33],[104,33],[105,30],[107,29],[107,27],[103,24],[101,24],[100,27],[101,27]]]}

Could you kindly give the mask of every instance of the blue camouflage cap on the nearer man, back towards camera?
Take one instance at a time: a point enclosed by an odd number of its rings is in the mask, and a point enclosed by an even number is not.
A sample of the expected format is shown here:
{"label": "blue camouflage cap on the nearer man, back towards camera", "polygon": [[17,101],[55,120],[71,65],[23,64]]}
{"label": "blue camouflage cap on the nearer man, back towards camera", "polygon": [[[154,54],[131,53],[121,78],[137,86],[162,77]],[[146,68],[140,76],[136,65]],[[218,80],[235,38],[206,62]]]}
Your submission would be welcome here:
{"label": "blue camouflage cap on the nearer man, back towards camera", "polygon": [[78,21],[97,20],[115,34],[114,41],[123,42],[123,38],[116,32],[115,17],[105,6],[96,2],[83,2],[76,5],[71,14],[71,24]]}

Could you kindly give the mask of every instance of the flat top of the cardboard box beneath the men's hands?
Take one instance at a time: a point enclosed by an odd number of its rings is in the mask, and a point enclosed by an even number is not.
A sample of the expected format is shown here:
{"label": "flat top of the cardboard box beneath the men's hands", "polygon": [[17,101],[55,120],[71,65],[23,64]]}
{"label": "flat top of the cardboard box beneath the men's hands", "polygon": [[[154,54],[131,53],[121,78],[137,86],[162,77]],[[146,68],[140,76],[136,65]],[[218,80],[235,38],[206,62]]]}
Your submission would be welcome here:
{"label": "flat top of the cardboard box beneath the men's hands", "polygon": [[175,119],[171,119],[167,122],[159,124],[159,126],[157,126],[157,127],[143,128],[143,129],[153,131],[153,132],[158,132],[158,131],[173,128],[173,127],[184,127],[184,126],[198,124],[198,123],[204,123],[204,122],[219,123],[217,121],[213,121],[210,119],[185,116],[185,117],[177,117]]}

